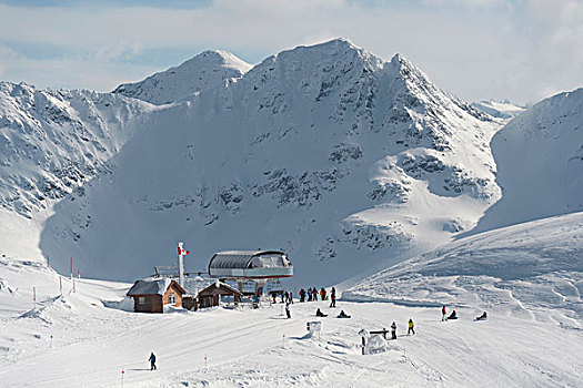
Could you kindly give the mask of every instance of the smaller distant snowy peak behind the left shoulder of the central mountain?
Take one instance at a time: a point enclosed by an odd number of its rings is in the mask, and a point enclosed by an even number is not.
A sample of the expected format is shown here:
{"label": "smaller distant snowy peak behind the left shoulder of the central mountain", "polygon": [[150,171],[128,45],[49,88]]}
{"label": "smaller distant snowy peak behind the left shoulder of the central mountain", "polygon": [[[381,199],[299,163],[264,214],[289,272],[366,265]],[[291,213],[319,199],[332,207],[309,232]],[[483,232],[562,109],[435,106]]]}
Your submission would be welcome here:
{"label": "smaller distant snowy peak behind the left shoulder of the central mountain", "polygon": [[113,93],[160,105],[212,90],[229,79],[241,78],[249,69],[249,63],[230,52],[204,51],[179,67],[150,75],[143,81],[123,83]]}

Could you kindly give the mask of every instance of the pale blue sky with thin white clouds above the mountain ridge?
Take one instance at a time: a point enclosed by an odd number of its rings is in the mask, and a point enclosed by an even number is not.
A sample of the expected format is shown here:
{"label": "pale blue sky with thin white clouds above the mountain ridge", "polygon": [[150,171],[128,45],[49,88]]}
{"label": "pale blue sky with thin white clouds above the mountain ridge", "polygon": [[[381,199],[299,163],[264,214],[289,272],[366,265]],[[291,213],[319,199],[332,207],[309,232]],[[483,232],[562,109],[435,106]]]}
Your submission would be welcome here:
{"label": "pale blue sky with thin white clouds above the mountain ridge", "polygon": [[207,49],[258,63],[336,37],[469,101],[583,86],[580,0],[4,0],[0,80],[110,91]]}

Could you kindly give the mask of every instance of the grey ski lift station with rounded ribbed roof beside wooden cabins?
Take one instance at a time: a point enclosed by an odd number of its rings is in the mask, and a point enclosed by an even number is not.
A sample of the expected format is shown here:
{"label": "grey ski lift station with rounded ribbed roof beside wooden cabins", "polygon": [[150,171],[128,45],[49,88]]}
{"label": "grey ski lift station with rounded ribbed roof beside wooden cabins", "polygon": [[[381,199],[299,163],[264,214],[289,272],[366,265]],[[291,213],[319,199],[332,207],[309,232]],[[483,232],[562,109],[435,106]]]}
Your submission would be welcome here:
{"label": "grey ski lift station with rounded ribbed roof beside wooden cabins", "polygon": [[262,294],[267,280],[293,276],[293,265],[280,251],[224,251],[209,262],[209,276],[243,284],[255,283],[255,293]]}

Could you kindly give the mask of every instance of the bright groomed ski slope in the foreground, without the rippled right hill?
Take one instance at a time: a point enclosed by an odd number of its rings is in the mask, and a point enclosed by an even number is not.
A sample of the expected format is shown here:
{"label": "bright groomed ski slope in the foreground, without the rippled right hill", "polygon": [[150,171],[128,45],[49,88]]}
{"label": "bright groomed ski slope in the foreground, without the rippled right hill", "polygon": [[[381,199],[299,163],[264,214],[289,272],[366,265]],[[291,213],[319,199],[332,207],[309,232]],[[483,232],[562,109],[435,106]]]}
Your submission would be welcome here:
{"label": "bright groomed ski slope in the foreground, without the rippled right hill", "polygon": [[[392,303],[328,302],[260,309],[214,308],[163,315],[103,306],[130,284],[59,278],[36,263],[0,262],[2,320],[0,380],[9,387],[483,387],[581,386],[581,329],[529,316],[449,306],[460,319],[442,323],[440,308]],[[19,267],[16,267],[16,266]],[[32,285],[39,305],[32,308]],[[110,304],[111,305],[111,304]],[[316,320],[320,338],[305,338]],[[481,307],[481,306],[480,306]],[[344,309],[351,319],[334,316]],[[404,335],[412,317],[416,334]],[[398,324],[389,350],[362,356],[358,333]],[[53,336],[52,340],[50,336]],[[283,337],[285,336],[285,337]],[[148,357],[158,357],[150,371]],[[204,360],[207,357],[207,363]]]}

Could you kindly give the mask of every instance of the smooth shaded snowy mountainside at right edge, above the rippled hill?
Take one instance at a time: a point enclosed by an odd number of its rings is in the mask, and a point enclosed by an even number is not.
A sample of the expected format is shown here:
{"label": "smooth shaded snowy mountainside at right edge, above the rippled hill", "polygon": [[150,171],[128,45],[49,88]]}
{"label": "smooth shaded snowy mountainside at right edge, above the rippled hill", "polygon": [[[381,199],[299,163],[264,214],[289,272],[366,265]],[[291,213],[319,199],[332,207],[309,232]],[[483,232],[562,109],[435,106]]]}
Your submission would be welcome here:
{"label": "smooth shaded snowy mountainside at right edge, above the rippled hill", "polygon": [[491,147],[503,196],[472,233],[583,211],[583,89],[534,104]]}

